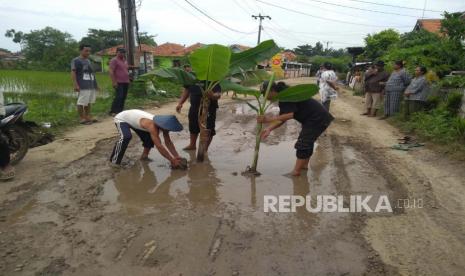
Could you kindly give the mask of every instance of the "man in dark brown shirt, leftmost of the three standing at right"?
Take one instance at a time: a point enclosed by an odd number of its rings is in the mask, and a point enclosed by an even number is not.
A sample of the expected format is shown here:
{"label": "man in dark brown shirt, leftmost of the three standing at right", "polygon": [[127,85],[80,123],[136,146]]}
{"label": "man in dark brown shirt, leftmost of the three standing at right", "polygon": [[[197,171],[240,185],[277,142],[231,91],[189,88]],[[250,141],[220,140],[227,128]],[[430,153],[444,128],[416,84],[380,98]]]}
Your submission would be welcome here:
{"label": "man in dark brown shirt, leftmost of the three standing at right", "polygon": [[365,74],[365,106],[367,111],[362,115],[376,117],[381,105],[381,95],[384,91],[389,74],[384,71],[384,61],[376,63],[375,68],[368,69]]}

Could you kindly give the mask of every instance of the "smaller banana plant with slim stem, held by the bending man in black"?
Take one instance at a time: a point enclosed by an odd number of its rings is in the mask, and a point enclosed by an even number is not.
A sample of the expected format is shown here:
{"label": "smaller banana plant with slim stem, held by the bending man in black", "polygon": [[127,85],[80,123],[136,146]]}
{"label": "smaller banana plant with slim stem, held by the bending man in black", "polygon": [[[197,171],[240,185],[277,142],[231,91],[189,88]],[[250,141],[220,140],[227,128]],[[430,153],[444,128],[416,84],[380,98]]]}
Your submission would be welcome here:
{"label": "smaller banana plant with slim stem, held by the bending man in black", "polygon": [[[316,86],[315,84],[299,84],[299,85],[295,85],[295,86],[284,89],[283,91],[279,92],[278,95],[270,101],[268,100],[268,96],[270,94],[270,90],[274,82],[274,78],[275,78],[275,75],[273,73],[268,81],[268,86],[266,87],[266,90],[263,94],[258,90],[243,87],[235,83],[232,83],[228,80],[222,81],[221,87],[226,91],[232,90],[232,91],[235,91],[237,94],[246,94],[249,96],[253,96],[255,98],[254,102],[256,102],[255,105],[247,100],[241,100],[241,101],[245,102],[259,116],[265,115],[268,108],[271,106],[271,104],[274,101],[300,102],[300,101],[310,99],[311,97],[313,97],[314,95],[318,93],[318,86]],[[256,132],[255,132],[255,149],[254,149],[252,165],[247,167],[246,171],[244,172],[245,175],[252,175],[252,176],[260,175],[260,173],[257,171],[257,166],[258,166],[258,156],[260,152],[262,130],[263,130],[263,124],[257,123]]]}

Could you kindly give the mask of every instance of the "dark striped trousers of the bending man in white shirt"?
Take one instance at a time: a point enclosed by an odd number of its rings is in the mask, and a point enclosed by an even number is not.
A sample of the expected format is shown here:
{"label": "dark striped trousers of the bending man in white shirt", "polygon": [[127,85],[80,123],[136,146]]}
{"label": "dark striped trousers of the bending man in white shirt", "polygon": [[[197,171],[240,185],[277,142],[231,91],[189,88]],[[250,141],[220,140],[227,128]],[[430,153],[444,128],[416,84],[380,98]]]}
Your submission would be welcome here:
{"label": "dark striped trousers of the bending man in white shirt", "polygon": [[129,142],[132,139],[131,129],[139,136],[140,140],[142,141],[142,146],[144,148],[153,148],[153,141],[152,137],[150,137],[150,133],[146,131],[142,131],[140,129],[131,128],[128,123],[115,123],[116,129],[118,129],[119,139],[116,142],[115,146],[113,147],[113,151],[110,156],[110,162],[114,164],[121,164],[123,160],[124,153],[128,148]]}

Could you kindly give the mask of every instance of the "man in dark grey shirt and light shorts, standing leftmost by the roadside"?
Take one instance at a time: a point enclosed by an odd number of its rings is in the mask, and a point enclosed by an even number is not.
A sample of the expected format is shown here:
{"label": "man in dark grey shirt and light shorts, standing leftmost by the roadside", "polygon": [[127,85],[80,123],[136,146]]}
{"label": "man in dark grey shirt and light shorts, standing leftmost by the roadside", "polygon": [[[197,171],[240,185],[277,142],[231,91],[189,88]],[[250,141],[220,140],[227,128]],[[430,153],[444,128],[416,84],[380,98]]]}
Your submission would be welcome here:
{"label": "man in dark grey shirt and light shorts, standing leftmost by the roadside", "polygon": [[94,70],[89,60],[90,45],[79,45],[80,55],[71,61],[71,78],[74,84],[74,91],[79,93],[77,109],[80,123],[89,125],[97,122],[92,119],[90,111],[91,105],[95,103],[98,88]]}

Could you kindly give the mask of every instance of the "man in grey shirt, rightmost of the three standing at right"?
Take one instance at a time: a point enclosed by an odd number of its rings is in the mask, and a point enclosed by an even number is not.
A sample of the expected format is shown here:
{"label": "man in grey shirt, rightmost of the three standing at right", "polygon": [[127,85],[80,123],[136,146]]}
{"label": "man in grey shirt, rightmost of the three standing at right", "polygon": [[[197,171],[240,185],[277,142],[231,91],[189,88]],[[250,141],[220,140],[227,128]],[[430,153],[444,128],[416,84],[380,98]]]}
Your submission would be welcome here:
{"label": "man in grey shirt, rightmost of the three standing at right", "polygon": [[405,90],[405,117],[410,114],[421,111],[425,108],[426,98],[428,96],[429,84],[425,74],[427,70],[424,66],[415,68],[415,78]]}

